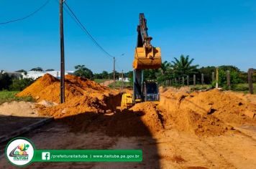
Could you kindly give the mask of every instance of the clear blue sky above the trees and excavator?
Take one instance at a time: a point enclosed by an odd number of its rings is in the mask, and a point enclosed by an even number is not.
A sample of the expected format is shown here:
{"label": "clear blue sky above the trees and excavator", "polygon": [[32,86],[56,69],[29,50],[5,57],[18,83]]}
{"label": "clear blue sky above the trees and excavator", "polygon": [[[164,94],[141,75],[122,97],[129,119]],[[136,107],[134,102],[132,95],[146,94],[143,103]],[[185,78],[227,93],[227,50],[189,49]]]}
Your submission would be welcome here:
{"label": "clear blue sky above the trees and excavator", "polygon": [[[28,19],[0,25],[0,69],[59,69],[57,1],[51,0]],[[132,70],[140,12],[145,13],[152,44],[161,47],[163,60],[170,62],[188,54],[201,67],[232,64],[244,71],[256,68],[256,1],[65,1],[97,42],[116,56],[117,71]],[[26,16],[43,3],[45,0],[0,0],[0,22]],[[85,64],[93,72],[111,71],[113,60],[64,14],[65,69]]]}

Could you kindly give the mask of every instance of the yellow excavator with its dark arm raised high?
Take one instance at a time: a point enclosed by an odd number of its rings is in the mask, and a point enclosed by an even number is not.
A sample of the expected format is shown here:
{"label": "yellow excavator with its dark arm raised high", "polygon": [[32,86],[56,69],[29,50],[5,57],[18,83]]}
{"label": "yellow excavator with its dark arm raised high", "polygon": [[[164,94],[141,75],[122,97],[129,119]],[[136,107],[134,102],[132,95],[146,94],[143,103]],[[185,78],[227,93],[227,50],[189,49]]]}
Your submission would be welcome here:
{"label": "yellow excavator with its dark arm raised high", "polygon": [[152,37],[147,34],[147,20],[144,14],[139,16],[137,26],[137,47],[134,53],[133,67],[133,94],[122,95],[122,107],[132,107],[137,102],[159,101],[157,82],[145,81],[143,79],[144,69],[159,69],[161,67],[160,47],[153,47]]}

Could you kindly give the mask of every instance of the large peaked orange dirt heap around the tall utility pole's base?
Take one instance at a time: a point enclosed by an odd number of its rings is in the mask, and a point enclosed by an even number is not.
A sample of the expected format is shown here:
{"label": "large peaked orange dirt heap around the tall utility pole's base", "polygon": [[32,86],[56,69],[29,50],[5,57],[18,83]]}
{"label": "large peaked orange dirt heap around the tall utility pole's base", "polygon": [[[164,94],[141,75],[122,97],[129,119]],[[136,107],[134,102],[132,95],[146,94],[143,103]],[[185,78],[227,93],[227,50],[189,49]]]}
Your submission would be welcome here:
{"label": "large peaked orange dirt heap around the tall utility pole's base", "polygon": [[83,112],[104,112],[115,106],[114,104],[112,107],[108,106],[111,99],[116,99],[117,104],[120,97],[118,92],[108,87],[70,74],[65,75],[65,103],[63,104],[56,104],[60,103],[60,81],[50,74],[40,77],[17,96],[34,97],[40,103],[37,105],[40,114],[55,118],[78,115]]}

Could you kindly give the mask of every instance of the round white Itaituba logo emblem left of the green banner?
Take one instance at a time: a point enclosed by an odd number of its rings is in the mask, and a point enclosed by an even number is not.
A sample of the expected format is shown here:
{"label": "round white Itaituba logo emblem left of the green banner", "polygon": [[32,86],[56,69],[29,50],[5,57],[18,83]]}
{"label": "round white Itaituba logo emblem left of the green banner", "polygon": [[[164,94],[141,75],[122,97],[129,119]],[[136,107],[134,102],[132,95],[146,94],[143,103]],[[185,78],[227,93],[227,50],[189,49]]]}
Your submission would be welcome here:
{"label": "round white Itaituba logo emblem left of the green banner", "polygon": [[27,165],[34,157],[35,148],[31,141],[24,137],[11,140],[5,149],[6,158],[13,165]]}

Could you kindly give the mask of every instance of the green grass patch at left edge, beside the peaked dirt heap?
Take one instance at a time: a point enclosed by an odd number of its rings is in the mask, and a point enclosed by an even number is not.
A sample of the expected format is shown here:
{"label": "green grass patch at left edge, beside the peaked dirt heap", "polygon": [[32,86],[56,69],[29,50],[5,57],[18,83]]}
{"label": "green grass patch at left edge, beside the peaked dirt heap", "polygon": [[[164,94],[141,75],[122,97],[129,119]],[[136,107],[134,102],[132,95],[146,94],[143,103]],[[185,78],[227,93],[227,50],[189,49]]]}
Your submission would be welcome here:
{"label": "green grass patch at left edge, beside the peaked dirt heap", "polygon": [[34,101],[32,97],[16,97],[15,95],[19,91],[0,91],[0,105],[4,102],[12,102],[12,101],[25,101],[32,102]]}

